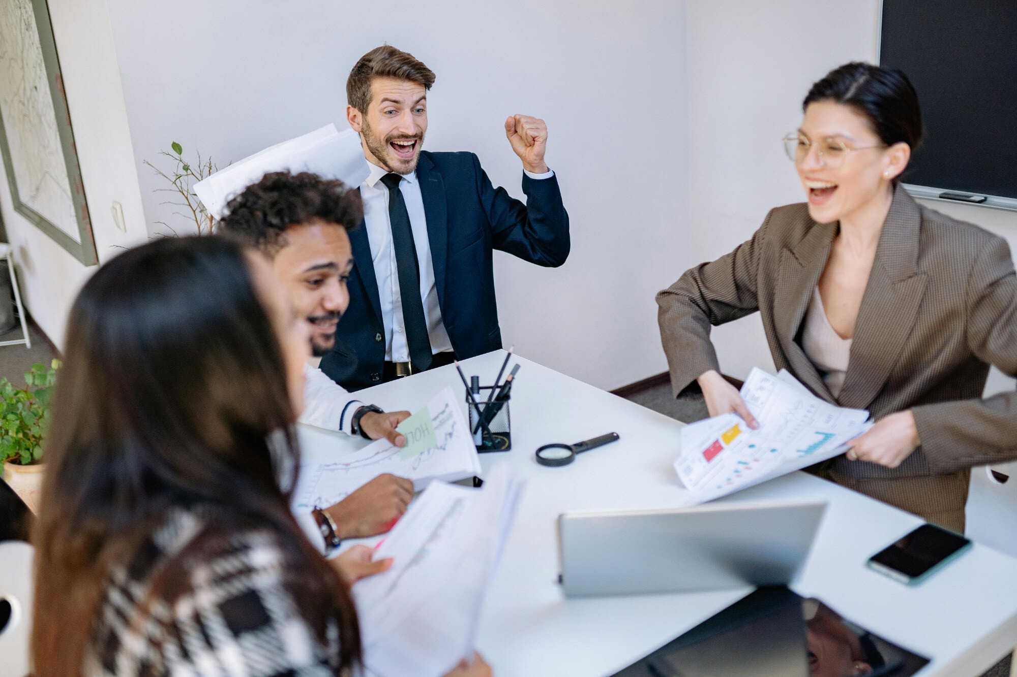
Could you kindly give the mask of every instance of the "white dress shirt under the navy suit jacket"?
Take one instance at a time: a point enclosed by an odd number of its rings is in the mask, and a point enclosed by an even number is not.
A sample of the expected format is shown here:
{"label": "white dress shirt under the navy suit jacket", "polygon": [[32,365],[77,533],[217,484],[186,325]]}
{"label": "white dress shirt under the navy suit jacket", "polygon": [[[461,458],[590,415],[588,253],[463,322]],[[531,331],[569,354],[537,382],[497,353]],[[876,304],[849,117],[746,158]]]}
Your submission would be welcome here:
{"label": "white dress shirt under the navy suit jacket", "polygon": [[[406,341],[406,324],[403,321],[403,301],[399,289],[399,272],[396,266],[396,248],[392,245],[392,224],[388,221],[388,188],[381,183],[381,177],[388,173],[374,163],[368,162],[370,175],[360,184],[360,197],[364,204],[364,226],[371,246],[371,262],[374,264],[374,279],[378,285],[378,300],[381,302],[381,322],[384,326],[384,359],[390,362],[409,362],[410,347]],[[525,171],[525,170],[524,170]],[[547,179],[554,172],[533,174],[532,179]],[[399,189],[410,216],[410,230],[420,264],[420,300],[424,306],[427,334],[431,342],[431,352],[452,351],[452,341],[441,321],[438,307],[438,291],[434,286],[434,263],[431,261],[431,244],[427,237],[427,220],[424,216],[424,200],[420,194],[417,173],[403,176]]]}

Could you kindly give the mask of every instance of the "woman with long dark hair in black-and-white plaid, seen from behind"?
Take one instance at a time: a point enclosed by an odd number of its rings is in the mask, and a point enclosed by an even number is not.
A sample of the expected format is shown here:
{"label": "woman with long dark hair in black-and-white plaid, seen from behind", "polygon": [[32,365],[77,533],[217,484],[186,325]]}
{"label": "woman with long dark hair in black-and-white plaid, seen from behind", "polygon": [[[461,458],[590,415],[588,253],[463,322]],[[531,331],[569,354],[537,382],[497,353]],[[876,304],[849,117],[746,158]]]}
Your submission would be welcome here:
{"label": "woman with long dark hair in black-and-white plaid, seen from behind", "polygon": [[[360,659],[347,586],[289,511],[306,322],[258,254],[165,239],[71,310],[34,534],[36,674],[325,675]],[[482,661],[455,674],[488,674]]]}

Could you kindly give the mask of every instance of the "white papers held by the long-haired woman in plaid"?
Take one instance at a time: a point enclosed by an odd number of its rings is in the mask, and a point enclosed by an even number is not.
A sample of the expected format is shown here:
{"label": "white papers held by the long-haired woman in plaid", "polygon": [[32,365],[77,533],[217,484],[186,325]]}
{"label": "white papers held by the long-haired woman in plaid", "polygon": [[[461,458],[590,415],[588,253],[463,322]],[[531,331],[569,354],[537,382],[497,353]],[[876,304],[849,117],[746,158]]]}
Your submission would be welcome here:
{"label": "white papers held by the long-haired woman in plaid", "polygon": [[435,482],[413,502],[374,555],[392,568],[353,587],[369,672],[438,677],[473,656],[521,491],[499,466],[482,489]]}

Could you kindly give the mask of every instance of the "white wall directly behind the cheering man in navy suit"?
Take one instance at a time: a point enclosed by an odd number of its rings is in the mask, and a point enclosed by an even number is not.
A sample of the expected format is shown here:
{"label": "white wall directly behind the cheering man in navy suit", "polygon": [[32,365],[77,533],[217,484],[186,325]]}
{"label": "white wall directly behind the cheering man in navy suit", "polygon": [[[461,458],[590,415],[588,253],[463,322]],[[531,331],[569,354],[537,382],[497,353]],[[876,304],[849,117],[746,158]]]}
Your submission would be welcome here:
{"label": "white wall directly behind the cheering man in navy suit", "polygon": [[109,0],[149,225],[172,217],[142,160],[178,141],[225,164],[330,121],[342,129],[350,67],[387,42],[437,74],[425,147],[477,152],[516,196],[522,170],[502,122],[547,121],[573,252],[558,269],[496,254],[505,346],[607,388],[663,371],[653,297],[692,262],[684,3],[386,7]]}

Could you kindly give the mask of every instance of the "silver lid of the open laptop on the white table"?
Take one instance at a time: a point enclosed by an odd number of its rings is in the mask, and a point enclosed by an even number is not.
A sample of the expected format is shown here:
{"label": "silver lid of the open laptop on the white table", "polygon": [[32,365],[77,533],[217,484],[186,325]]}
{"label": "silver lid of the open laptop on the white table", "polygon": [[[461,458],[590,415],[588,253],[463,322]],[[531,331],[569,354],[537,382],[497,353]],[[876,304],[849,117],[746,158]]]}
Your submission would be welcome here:
{"label": "silver lid of the open laptop on the white table", "polygon": [[809,556],[825,501],[558,515],[566,597],[786,584]]}

